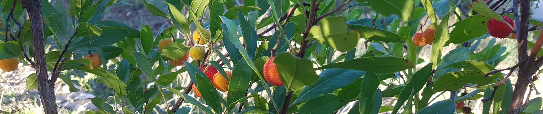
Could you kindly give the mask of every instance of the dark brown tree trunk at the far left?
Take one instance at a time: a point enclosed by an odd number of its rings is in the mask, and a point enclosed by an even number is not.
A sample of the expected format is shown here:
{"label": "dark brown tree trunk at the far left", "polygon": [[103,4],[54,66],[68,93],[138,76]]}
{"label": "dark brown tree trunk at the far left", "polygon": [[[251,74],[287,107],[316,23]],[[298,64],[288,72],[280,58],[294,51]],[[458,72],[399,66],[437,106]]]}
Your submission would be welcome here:
{"label": "dark brown tree trunk at the far left", "polygon": [[55,103],[54,82],[49,81],[47,65],[45,63],[45,39],[43,37],[43,16],[41,0],[21,0],[23,8],[27,10],[34,41],[34,62],[37,75],[37,86],[40,93],[41,104],[45,113],[58,113]]}

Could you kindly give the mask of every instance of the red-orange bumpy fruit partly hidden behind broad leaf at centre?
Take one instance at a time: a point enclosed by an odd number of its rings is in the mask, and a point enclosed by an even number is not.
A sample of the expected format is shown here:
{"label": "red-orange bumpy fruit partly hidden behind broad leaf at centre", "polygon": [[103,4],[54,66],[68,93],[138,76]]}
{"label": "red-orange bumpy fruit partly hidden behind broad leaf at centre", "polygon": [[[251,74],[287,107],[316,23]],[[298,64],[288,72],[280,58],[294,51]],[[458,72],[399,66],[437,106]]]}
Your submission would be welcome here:
{"label": "red-orange bumpy fruit partly hidden behind broad leaf at centre", "polygon": [[279,76],[279,72],[277,72],[277,66],[273,62],[274,60],[275,57],[270,57],[270,59],[264,64],[264,78],[266,78],[266,81],[268,81],[271,85],[282,86],[283,82],[281,82],[281,77]]}

